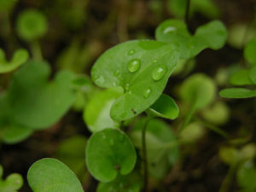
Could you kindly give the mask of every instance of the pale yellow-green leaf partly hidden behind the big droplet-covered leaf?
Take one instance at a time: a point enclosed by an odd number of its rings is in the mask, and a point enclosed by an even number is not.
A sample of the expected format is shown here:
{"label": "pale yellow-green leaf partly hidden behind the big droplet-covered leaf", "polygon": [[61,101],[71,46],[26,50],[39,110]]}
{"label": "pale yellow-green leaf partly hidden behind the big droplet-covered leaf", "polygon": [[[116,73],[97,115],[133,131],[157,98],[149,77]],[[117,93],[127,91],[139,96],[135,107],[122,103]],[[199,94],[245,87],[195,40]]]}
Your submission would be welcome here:
{"label": "pale yellow-green leaf partly hidden behind the big droplet-covered leaf", "polygon": [[84,108],[84,122],[91,132],[106,128],[119,128],[119,122],[110,117],[110,108],[119,96],[123,95],[120,87],[109,88],[97,93]]}

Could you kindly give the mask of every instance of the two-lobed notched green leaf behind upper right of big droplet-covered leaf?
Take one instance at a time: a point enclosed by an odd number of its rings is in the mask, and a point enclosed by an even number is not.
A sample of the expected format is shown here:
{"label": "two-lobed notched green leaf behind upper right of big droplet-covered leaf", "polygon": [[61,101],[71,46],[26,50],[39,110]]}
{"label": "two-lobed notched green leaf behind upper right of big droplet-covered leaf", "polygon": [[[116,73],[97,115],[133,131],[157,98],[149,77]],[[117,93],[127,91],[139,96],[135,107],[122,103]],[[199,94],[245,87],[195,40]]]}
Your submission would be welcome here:
{"label": "two-lobed notched green leaf behind upper right of big droplet-covered leaf", "polygon": [[181,59],[189,59],[203,49],[220,49],[224,46],[227,32],[222,22],[213,20],[198,27],[192,36],[183,21],[166,20],[157,27],[155,37],[158,41],[175,44],[181,52]]}

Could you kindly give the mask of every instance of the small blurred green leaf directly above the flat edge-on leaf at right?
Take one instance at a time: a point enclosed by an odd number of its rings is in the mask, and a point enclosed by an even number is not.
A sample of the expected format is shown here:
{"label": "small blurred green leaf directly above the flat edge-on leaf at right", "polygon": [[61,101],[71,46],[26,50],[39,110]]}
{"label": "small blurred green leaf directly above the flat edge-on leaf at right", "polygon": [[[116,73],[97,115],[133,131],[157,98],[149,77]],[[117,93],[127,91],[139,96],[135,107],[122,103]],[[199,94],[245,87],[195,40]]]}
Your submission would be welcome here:
{"label": "small blurred green leaf directly above the flat edge-on leaf at right", "polygon": [[249,78],[250,71],[248,69],[238,70],[230,77],[230,83],[234,85],[247,85],[253,84],[252,80]]}

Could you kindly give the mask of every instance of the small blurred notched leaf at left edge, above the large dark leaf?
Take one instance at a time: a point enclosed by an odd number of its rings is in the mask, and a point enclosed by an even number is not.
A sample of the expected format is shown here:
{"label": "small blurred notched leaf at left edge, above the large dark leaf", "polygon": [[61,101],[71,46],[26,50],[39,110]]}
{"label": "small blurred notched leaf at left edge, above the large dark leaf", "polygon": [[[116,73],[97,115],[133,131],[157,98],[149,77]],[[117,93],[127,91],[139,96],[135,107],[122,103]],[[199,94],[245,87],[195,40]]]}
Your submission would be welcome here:
{"label": "small blurred notched leaf at left edge, above the large dark leaf", "polygon": [[24,64],[29,55],[26,49],[18,49],[15,51],[11,61],[6,61],[3,49],[0,49],[0,73],[9,73]]}

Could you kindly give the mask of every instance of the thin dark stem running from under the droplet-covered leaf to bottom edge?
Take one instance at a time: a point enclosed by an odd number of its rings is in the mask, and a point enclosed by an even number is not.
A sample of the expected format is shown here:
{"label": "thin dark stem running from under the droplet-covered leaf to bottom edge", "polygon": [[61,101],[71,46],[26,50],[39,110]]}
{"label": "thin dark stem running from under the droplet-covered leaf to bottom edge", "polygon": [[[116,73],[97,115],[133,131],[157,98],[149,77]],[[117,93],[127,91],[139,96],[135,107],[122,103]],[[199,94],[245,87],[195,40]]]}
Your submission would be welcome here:
{"label": "thin dark stem running from under the droplet-covered leaf to bottom edge", "polygon": [[148,191],[148,157],[147,157],[147,146],[146,146],[146,130],[149,121],[153,119],[153,117],[148,116],[146,119],[144,125],[143,125],[143,131],[142,131],[142,146],[143,146],[143,176],[144,176],[144,192]]}

